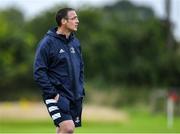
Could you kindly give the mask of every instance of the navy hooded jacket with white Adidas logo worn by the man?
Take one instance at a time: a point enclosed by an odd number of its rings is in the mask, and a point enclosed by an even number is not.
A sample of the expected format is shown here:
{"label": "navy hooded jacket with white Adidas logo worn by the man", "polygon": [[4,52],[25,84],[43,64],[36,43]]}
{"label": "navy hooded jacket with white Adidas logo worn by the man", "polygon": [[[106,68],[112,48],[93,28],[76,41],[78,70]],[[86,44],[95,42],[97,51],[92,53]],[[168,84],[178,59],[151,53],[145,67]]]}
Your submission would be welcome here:
{"label": "navy hooded jacket with white Adidas logo worn by the man", "polygon": [[72,101],[82,98],[83,59],[80,43],[74,34],[68,39],[50,29],[40,41],[34,61],[34,79],[43,91],[44,99],[58,93]]}

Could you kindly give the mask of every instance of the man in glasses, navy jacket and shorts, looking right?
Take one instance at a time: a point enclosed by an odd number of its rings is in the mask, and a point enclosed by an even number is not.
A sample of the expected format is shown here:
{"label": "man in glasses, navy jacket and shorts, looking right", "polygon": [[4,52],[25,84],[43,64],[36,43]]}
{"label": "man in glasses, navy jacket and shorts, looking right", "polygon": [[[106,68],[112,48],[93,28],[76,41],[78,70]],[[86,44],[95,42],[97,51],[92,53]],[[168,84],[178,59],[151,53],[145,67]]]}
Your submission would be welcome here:
{"label": "man in glasses, navy jacket and shorts, looking right", "polygon": [[57,127],[57,133],[73,133],[81,126],[83,60],[75,37],[79,20],[72,8],[56,14],[57,27],[40,41],[34,60],[34,79],[43,91],[43,100]]}

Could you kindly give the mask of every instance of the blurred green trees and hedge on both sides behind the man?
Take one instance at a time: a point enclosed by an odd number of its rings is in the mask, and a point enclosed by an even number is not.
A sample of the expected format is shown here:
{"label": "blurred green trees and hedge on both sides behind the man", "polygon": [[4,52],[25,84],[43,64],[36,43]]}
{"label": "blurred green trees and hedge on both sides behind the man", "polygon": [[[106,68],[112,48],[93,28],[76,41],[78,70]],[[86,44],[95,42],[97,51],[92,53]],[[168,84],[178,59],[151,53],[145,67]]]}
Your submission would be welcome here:
{"label": "blurred green trees and hedge on both sides behind the man", "polygon": [[[65,5],[64,5],[65,6]],[[55,26],[56,6],[30,20],[16,8],[0,10],[0,99],[14,91],[34,92],[35,49]],[[152,9],[119,1],[102,8],[80,8],[85,80],[125,86],[179,86],[179,46],[166,47],[167,26]],[[23,81],[23,82],[22,82]],[[16,97],[14,97],[16,98]]]}

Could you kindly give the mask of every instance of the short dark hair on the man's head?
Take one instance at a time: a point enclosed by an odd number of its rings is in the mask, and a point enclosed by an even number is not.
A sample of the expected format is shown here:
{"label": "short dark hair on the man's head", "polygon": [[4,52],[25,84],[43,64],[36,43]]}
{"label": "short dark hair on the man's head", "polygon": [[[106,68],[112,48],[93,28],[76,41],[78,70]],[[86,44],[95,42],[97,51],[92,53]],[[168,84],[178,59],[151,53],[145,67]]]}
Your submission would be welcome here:
{"label": "short dark hair on the man's head", "polygon": [[56,13],[56,23],[58,26],[61,26],[61,20],[67,18],[69,11],[75,11],[73,8],[62,8]]}

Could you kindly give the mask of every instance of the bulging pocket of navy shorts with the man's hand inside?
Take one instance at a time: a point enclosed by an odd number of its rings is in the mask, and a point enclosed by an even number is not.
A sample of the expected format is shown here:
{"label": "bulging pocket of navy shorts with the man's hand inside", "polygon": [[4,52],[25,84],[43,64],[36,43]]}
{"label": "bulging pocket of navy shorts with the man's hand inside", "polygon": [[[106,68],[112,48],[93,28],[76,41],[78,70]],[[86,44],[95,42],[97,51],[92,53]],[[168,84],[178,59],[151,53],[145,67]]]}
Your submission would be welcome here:
{"label": "bulging pocket of navy shorts with the man's hand inside", "polygon": [[63,112],[69,112],[70,111],[70,101],[64,97],[64,96],[59,96],[59,100],[57,101],[57,105],[60,110]]}

